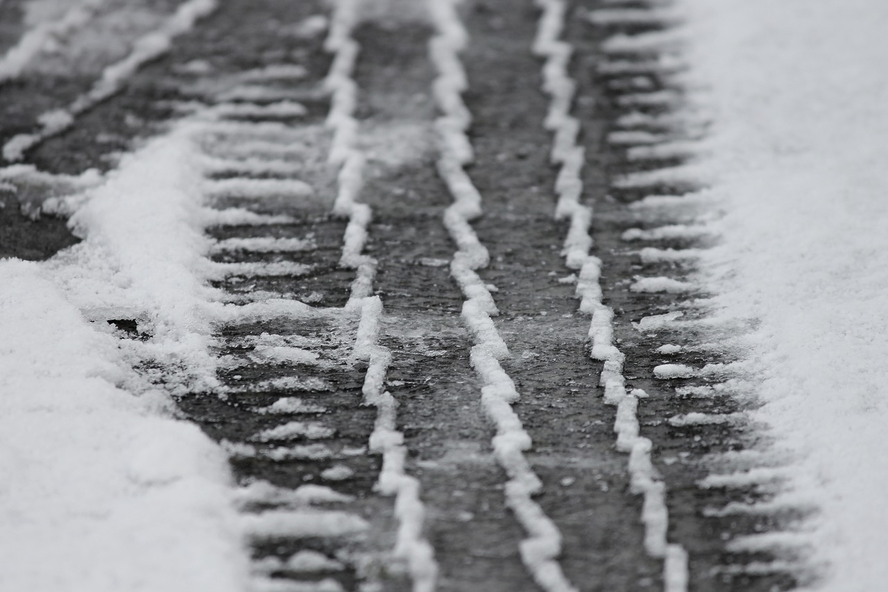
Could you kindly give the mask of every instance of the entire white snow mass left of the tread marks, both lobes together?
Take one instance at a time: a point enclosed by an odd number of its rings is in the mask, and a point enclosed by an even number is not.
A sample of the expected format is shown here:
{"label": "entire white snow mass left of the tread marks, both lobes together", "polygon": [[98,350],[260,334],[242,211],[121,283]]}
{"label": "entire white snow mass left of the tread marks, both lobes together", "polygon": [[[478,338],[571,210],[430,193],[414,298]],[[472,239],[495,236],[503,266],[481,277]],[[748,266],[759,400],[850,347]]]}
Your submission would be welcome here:
{"label": "entire white snow mass left of the tread marks, both lobes together", "polygon": [[[204,282],[192,132],[149,142],[89,191],[72,218],[83,243],[0,262],[0,588],[245,588],[226,455],[132,372],[215,380],[221,305]],[[121,340],[112,319],[150,338]]]}

